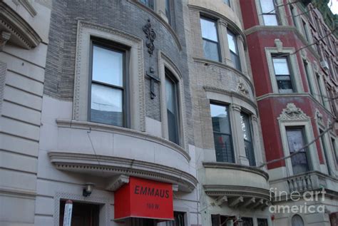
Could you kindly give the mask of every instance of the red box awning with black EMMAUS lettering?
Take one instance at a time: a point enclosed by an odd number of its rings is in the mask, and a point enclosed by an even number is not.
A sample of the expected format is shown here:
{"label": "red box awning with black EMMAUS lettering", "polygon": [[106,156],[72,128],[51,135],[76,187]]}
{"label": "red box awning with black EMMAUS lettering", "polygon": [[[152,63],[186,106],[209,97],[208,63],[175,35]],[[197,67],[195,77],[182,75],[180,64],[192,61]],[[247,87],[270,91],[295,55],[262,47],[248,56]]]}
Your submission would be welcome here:
{"label": "red box awning with black EMMAUS lettering", "polygon": [[127,217],[173,220],[173,187],[168,183],[129,178],[115,192],[115,220]]}

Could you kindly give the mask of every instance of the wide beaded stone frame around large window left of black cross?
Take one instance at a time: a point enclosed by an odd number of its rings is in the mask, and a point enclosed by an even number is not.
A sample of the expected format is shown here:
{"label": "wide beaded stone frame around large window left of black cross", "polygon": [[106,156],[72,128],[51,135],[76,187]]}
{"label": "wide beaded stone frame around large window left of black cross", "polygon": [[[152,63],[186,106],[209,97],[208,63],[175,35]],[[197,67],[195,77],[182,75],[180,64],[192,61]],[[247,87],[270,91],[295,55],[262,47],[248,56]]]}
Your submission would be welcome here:
{"label": "wide beaded stone frame around large window left of black cross", "polygon": [[138,92],[129,93],[130,128],[145,131],[145,97],[144,97],[144,67],[143,67],[143,41],[123,31],[108,26],[78,21],[76,40],[76,65],[73,94],[73,120],[88,121],[88,81],[91,37],[104,38],[108,41],[129,46],[129,84],[130,90]]}

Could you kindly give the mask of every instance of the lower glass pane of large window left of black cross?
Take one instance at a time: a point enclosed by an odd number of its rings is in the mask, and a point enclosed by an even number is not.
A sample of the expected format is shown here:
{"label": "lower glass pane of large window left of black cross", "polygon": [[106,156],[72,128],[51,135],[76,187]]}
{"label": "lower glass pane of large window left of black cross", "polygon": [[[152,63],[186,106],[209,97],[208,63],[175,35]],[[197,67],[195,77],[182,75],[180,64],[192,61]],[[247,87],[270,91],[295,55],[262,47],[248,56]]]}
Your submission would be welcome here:
{"label": "lower glass pane of large window left of black cross", "polygon": [[123,91],[91,85],[91,121],[123,126]]}

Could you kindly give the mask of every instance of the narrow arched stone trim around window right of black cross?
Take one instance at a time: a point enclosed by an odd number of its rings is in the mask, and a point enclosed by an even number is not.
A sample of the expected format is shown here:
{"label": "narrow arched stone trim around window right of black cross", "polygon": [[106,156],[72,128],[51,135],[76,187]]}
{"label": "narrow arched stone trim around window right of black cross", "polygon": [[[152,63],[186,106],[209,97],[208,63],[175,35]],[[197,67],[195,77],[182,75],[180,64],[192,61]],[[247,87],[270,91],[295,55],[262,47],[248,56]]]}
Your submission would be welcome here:
{"label": "narrow arched stone trim around window right of black cross", "polygon": [[[184,84],[183,76],[175,63],[168,58],[162,51],[158,51],[158,72],[160,77],[160,112],[161,112],[161,127],[162,137],[169,140],[168,135],[168,115],[167,104],[165,97],[165,68],[167,68],[171,75],[176,79],[176,86],[178,88],[178,145],[188,150],[188,139],[186,134],[188,133],[185,126],[187,121],[185,118],[185,100],[184,100]],[[170,141],[171,142],[171,141]]]}

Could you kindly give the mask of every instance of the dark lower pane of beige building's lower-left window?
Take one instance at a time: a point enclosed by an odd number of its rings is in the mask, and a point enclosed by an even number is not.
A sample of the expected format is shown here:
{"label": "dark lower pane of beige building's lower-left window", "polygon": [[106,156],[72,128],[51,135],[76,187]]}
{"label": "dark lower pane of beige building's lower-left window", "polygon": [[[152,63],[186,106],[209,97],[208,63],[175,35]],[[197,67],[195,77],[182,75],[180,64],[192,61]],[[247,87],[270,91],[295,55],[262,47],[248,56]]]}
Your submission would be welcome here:
{"label": "dark lower pane of beige building's lower-left window", "polygon": [[216,161],[235,163],[235,158],[232,150],[231,135],[214,133],[214,142],[216,150]]}

